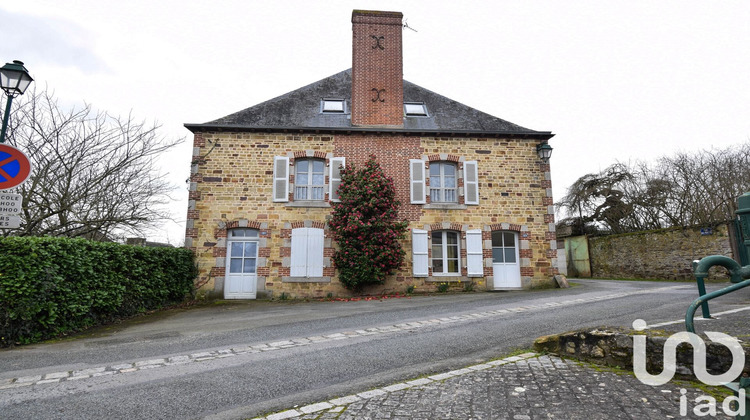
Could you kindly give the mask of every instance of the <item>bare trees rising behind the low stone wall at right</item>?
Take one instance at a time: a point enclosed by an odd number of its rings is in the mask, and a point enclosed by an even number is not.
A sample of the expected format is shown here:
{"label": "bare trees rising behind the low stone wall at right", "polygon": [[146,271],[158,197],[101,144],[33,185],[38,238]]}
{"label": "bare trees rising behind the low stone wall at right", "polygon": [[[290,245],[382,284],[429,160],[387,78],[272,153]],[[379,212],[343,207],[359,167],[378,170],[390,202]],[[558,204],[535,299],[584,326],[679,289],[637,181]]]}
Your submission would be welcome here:
{"label": "bare trees rising behind the low stone wall at right", "polygon": [[587,174],[557,206],[576,234],[711,225],[734,219],[750,191],[750,143],[677,153],[653,165],[616,163]]}

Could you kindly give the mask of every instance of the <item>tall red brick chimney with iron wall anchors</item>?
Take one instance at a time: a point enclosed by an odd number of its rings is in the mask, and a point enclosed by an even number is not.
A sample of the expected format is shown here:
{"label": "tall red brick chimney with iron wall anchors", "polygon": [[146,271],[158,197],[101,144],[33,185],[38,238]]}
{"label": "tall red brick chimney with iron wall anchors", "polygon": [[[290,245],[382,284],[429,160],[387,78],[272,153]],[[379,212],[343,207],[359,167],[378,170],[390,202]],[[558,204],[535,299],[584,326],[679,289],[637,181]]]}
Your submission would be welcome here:
{"label": "tall red brick chimney with iron wall anchors", "polygon": [[401,12],[352,12],[352,125],[404,125]]}

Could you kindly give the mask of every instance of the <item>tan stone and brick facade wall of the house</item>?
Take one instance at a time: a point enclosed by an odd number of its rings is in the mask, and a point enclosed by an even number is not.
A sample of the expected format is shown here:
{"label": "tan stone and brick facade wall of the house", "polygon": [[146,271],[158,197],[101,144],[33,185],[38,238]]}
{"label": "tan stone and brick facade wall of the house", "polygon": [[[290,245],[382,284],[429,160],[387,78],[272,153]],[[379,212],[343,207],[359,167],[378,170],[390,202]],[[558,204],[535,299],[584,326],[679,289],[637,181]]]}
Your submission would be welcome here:
{"label": "tan stone and brick facade wall of the house", "polygon": [[[556,241],[550,168],[536,153],[538,140],[523,138],[419,137],[404,134],[305,134],[257,132],[197,132],[191,168],[186,246],[198,260],[201,291],[221,297],[227,255],[227,230],[259,230],[258,296],[350,296],[337,280],[331,256],[335,250],[326,221],[331,208],[328,191],[317,203],[294,200],[294,161],[316,158],[328,167],[333,158],[347,165],[362,165],[370,155],[394,179],[400,216],[409,229],[450,229],[461,236],[461,275],[415,277],[412,272],[412,239],[403,242],[406,259],[386,284],[364,290],[366,294],[436,290],[438,284],[474,290],[493,289],[491,234],[495,230],[518,234],[522,286],[552,285],[556,270]],[[274,157],[289,159],[288,202],[274,202]],[[452,206],[410,203],[410,159],[454,162],[458,167],[458,203]],[[479,205],[466,205],[463,197],[465,162],[476,161]],[[428,184],[429,186],[429,184]],[[291,231],[318,227],[324,231],[323,275],[308,281],[290,276]],[[482,231],[484,274],[470,277],[466,264],[466,232]],[[431,274],[431,273],[430,273]]]}

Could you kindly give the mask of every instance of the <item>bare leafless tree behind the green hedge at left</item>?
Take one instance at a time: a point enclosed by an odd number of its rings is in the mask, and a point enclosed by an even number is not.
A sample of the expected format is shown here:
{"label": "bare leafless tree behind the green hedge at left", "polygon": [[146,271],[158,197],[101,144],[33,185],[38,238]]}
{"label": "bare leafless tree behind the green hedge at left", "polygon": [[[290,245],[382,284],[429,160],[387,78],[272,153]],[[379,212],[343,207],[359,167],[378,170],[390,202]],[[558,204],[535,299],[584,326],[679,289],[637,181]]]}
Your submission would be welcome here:
{"label": "bare leafless tree behind the green hedge at left", "polygon": [[143,234],[170,217],[165,204],[174,187],[154,161],[184,139],[165,140],[158,125],[132,115],[63,107],[48,91],[21,98],[7,141],[29,156],[32,174],[18,191],[21,228],[5,235],[100,239]]}

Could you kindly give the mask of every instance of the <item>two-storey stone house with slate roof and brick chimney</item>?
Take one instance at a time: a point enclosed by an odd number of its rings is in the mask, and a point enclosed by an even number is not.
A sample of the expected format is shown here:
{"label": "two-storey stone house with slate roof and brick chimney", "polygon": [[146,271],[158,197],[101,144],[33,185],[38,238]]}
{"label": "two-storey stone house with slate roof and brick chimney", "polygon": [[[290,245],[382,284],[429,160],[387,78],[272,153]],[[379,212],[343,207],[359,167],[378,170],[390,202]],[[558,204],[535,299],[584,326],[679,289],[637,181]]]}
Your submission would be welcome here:
{"label": "two-storey stone house with slate roof and brick chimney", "polygon": [[[366,293],[552,284],[553,136],[431,92],[402,73],[402,15],[352,13],[352,68],[194,134],[186,246],[216,297],[346,296],[326,220],[341,166],[375,155],[409,221],[406,261]],[[547,146],[545,146],[547,147]]]}

